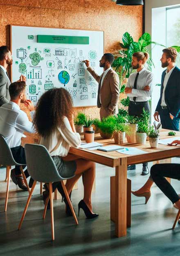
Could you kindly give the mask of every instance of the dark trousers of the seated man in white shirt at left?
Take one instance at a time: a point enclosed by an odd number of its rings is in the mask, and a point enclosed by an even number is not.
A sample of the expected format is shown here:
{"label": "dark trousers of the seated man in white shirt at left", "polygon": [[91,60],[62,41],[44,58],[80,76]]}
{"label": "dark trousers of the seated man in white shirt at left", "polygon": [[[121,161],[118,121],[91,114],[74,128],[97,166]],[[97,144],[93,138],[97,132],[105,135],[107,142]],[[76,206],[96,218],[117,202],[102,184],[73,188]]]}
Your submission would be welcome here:
{"label": "dark trousers of the seated man in white shirt at left", "polygon": [[[14,157],[14,160],[18,163],[18,164],[26,164],[26,156],[25,156],[25,149],[22,147],[22,146],[18,146],[18,147],[15,147],[15,148],[11,148],[11,152],[12,152],[12,155]],[[23,166],[23,169],[25,168],[26,166],[24,165]],[[21,171],[20,171],[20,167],[19,166],[15,166],[15,174],[16,175],[19,175],[21,174]],[[25,171],[25,176],[26,178],[29,177],[29,173],[27,172],[27,170]]]}

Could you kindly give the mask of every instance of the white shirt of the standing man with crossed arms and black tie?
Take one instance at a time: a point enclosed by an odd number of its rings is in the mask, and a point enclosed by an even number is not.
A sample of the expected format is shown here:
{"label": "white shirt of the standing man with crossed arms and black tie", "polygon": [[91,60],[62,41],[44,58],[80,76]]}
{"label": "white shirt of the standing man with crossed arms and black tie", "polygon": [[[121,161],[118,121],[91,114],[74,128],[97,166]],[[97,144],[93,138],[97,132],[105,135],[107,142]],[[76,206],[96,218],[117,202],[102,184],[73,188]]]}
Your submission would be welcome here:
{"label": "white shirt of the standing man with crossed arms and black tie", "polygon": [[[132,92],[128,93],[127,96],[130,98],[130,101],[133,101],[133,97],[136,97],[136,102],[138,101],[148,101],[152,94],[152,84],[153,84],[153,73],[145,67],[138,72],[139,76],[137,78],[137,89],[134,88],[135,77],[137,72],[130,74],[128,78],[128,83],[126,87],[132,88]],[[148,85],[151,89],[149,91],[144,91],[144,87]]]}

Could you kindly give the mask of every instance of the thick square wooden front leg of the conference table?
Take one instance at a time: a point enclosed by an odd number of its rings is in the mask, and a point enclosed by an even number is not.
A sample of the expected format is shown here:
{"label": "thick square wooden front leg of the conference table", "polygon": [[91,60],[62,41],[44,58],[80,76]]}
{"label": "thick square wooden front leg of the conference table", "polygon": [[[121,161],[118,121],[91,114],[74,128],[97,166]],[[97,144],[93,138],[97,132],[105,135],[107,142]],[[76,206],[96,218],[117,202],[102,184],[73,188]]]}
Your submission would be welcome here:
{"label": "thick square wooden front leg of the conference table", "polygon": [[127,158],[120,159],[115,175],[115,235],[126,236]]}

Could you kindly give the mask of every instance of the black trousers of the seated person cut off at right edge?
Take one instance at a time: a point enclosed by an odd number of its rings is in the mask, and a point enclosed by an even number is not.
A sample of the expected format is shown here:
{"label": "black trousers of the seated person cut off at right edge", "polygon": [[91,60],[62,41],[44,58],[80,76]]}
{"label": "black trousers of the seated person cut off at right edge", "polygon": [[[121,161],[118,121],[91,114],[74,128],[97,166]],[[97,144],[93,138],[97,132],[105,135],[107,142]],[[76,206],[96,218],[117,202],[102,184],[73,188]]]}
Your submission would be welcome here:
{"label": "black trousers of the seated person cut off at right edge", "polygon": [[151,178],[169,200],[175,203],[180,197],[164,177],[179,180],[180,164],[155,164],[151,167]]}

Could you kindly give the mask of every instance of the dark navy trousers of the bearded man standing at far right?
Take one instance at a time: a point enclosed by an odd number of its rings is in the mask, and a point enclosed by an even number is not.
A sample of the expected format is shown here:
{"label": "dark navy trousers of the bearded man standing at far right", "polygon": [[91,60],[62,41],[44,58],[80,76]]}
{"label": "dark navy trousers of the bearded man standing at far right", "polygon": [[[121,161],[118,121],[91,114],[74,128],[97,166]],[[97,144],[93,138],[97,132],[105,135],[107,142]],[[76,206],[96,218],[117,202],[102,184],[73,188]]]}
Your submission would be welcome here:
{"label": "dark navy trousers of the bearded man standing at far right", "polygon": [[163,129],[179,131],[179,118],[170,118],[169,111],[167,109],[160,109],[159,115]]}

